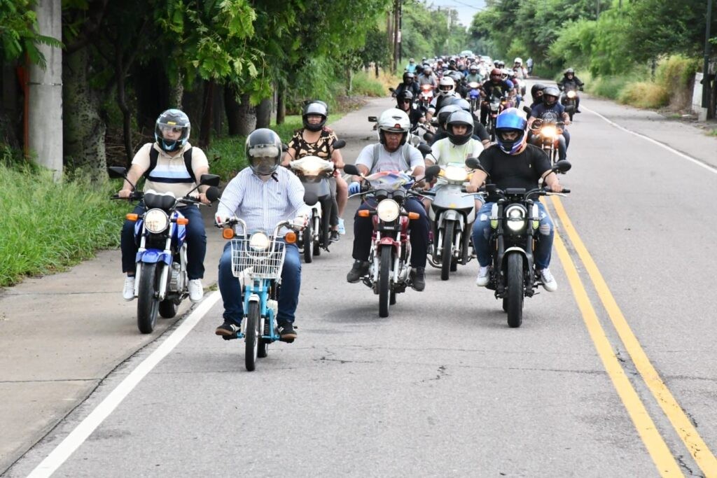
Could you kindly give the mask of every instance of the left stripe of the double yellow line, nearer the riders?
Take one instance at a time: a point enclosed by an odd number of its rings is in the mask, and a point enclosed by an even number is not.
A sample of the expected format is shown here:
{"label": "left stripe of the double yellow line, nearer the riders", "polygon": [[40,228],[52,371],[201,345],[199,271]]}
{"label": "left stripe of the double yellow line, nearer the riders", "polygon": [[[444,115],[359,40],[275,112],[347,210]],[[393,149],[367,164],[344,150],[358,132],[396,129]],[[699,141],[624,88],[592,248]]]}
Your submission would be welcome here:
{"label": "left stripe of the double yellow line, nearer the riders", "polygon": [[675,461],[672,452],[667,444],[665,444],[665,440],[660,435],[660,432],[657,431],[657,427],[650,418],[650,414],[647,413],[645,405],[640,401],[640,396],[637,395],[637,391],[632,387],[630,379],[625,375],[625,370],[612,351],[610,342],[607,340],[605,331],[602,325],[600,325],[597,314],[590,303],[587,291],[578,275],[573,259],[571,259],[570,254],[568,254],[557,231],[554,245],[560,257],[560,262],[562,262],[563,268],[565,269],[565,274],[570,282],[570,287],[573,290],[575,301],[583,316],[590,338],[592,338],[595,349],[602,360],[605,371],[607,371],[607,375],[612,380],[615,391],[617,391],[622,403],[625,404],[627,414],[630,415],[630,419],[632,419],[632,423],[635,424],[637,433],[640,434],[642,442],[645,443],[652,462],[655,463],[655,467],[657,467],[660,471],[660,475],[663,477],[683,477],[684,474],[680,469],[680,465]]}

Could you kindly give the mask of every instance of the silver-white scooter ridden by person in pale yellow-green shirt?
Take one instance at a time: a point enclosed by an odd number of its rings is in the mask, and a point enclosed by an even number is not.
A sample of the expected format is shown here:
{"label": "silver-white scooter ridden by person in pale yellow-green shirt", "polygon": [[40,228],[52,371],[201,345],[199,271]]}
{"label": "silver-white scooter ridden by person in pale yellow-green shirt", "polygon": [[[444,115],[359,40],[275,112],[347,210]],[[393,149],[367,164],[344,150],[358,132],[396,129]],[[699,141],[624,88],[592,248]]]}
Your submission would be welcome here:
{"label": "silver-white scooter ridden by person in pale yellow-green shirt", "polygon": [[470,180],[468,171],[460,163],[449,163],[441,168],[428,217],[435,238],[429,264],[441,269],[441,280],[448,280],[457,264],[470,262],[470,234],[475,221],[473,194],[462,192],[462,185]]}

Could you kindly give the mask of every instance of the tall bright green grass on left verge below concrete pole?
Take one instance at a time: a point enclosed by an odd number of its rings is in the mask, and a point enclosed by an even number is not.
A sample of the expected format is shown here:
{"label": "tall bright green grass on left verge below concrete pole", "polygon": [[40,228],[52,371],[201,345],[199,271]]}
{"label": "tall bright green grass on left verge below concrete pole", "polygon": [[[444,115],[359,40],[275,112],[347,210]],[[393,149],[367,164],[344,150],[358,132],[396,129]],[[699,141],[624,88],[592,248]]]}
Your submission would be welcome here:
{"label": "tall bright green grass on left verge below concrete pole", "polygon": [[47,171],[0,163],[0,286],[118,247],[128,205],[110,201],[113,191],[81,179],[54,183]]}

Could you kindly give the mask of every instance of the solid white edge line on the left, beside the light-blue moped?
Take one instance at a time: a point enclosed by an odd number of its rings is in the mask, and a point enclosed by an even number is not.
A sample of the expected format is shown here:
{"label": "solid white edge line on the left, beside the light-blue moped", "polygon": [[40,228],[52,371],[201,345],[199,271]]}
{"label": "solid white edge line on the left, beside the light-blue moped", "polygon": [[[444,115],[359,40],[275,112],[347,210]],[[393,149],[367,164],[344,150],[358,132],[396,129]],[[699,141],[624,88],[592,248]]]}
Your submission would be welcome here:
{"label": "solid white edge line on the left, beside the light-blue moped", "polygon": [[30,472],[28,478],[49,477],[65,463],[65,461],[82,445],[92,431],[95,431],[100,424],[122,403],[126,396],[137,386],[137,384],[152,371],[152,369],[170,353],[177,344],[199,323],[206,312],[219,300],[219,291],[212,292],[201,302],[199,307],[191,312],[184,322],[159,345],[153,353],[142,362],[112,391],[110,394],[70,432],[62,443],[57,445],[47,457]]}

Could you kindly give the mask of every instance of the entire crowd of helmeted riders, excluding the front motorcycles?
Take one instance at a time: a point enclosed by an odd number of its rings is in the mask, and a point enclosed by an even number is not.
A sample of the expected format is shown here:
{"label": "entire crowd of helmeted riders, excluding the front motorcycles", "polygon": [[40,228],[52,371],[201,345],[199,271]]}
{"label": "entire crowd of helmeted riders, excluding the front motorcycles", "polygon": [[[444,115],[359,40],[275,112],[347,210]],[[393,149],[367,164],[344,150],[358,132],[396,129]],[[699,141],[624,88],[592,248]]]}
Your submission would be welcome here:
{"label": "entire crowd of helmeted riders, excluding the front motorcycles", "polygon": [[[517,107],[527,100],[526,79],[533,67],[533,60],[523,64],[521,58],[506,69],[500,60],[473,56],[423,59],[419,64],[409,60],[402,82],[391,89],[396,106],[386,110],[377,120],[378,143],[367,145],[355,164],[361,176],[343,176],[343,158],[336,133],[326,126],[328,106],[320,100],[308,100],[302,111],[303,128],[285,141],[268,129],[258,129],[246,141],[245,153],[248,168],[240,171],[224,188],[216,216],[217,226],[227,224],[236,216],[244,219],[248,229],[270,231],[280,221],[290,220],[298,229],[307,222],[308,204],[304,200],[304,187],[288,166],[292,161],[307,156],[317,156],[333,163],[331,178],[331,211],[324,211],[331,224],[331,241],[339,240],[344,233],[343,212],[348,197],[361,196],[361,205],[353,220],[353,264],[346,280],[359,282],[369,274],[371,266],[371,238],[375,221],[361,211],[376,209],[380,198],[364,194],[365,178],[391,171],[409,171],[415,178],[416,196],[407,196],[401,211],[411,214],[410,275],[407,284],[423,291],[426,287],[425,267],[435,227],[429,222],[427,211],[431,207],[432,191],[435,193],[436,175],[427,174],[427,166],[462,165],[467,158],[478,158],[480,170],[473,171],[470,181],[465,181],[465,193],[478,193],[488,181],[500,189],[536,188],[539,183],[547,191],[560,192],[551,158],[541,147],[531,144],[539,133],[532,127],[536,122],[553,118],[561,126],[556,140],[559,160],[565,160],[570,136],[566,126],[571,114],[580,113],[579,98],[574,106],[561,104],[563,92],[582,90],[583,83],[571,68],[557,85],[536,83],[531,87],[531,105],[526,107],[527,119]],[[475,98],[478,97],[478,101]],[[497,98],[498,110],[493,110],[491,98]],[[132,161],[128,180],[119,191],[120,197],[129,197],[133,184],[146,176],[145,191],[149,189],[174,191],[181,195],[197,186],[201,174],[209,172],[206,156],[199,148],[188,143],[189,118],[180,110],[167,110],[156,121],[154,143],[147,143]],[[289,138],[286,138],[289,139]],[[427,148],[420,148],[426,143]],[[281,167],[285,166],[285,167]],[[465,167],[465,166],[464,166]],[[424,178],[425,176],[428,176]],[[348,181],[346,181],[348,179]],[[424,181],[425,180],[425,181]],[[198,199],[204,204],[206,188],[199,188]],[[421,196],[422,195],[422,196]],[[468,234],[472,236],[473,257],[478,261],[476,284],[488,285],[492,210],[495,196],[491,193],[475,196],[475,222]],[[143,204],[135,213],[141,214]],[[184,207],[183,214],[189,218],[189,297],[193,302],[201,299],[201,278],[206,250],[206,233],[196,204]],[[553,224],[542,204],[538,204],[539,222],[535,252],[538,280],[547,291],[557,288],[549,270],[553,239]],[[134,282],[134,257],[138,245],[133,239],[133,223],[127,221],[122,234],[123,272],[127,274],[123,287],[125,300],[136,297]],[[301,282],[301,266],[298,244],[286,244],[285,263],[278,297],[277,330],[281,340],[292,342],[297,334],[293,327],[294,312],[298,304]],[[219,290],[224,300],[224,322],[216,333],[225,339],[235,338],[239,333],[242,315],[242,290],[232,275],[232,255],[229,244],[219,262]]]}

